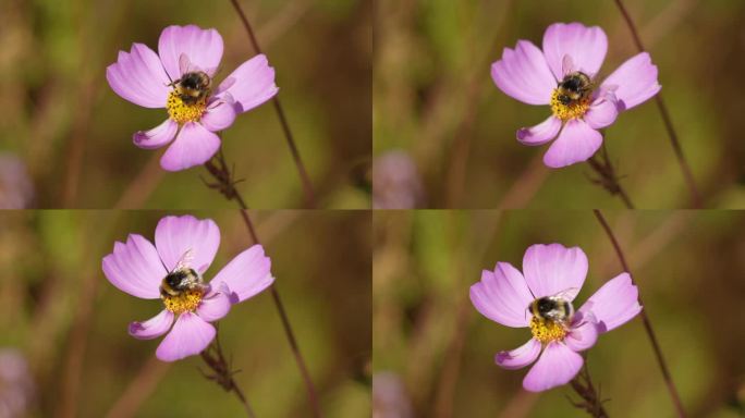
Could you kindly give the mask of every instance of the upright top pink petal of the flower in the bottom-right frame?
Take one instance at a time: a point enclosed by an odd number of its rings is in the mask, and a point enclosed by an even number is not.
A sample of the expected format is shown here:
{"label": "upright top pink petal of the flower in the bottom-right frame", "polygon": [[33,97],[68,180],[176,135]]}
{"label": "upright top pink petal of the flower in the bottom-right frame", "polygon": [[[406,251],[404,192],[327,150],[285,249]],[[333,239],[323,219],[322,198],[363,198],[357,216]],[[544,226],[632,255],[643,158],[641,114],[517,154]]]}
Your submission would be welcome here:
{"label": "upright top pink petal of the flower in the bottom-right frame", "polygon": [[587,256],[579,247],[532,245],[523,257],[523,273],[535,297],[561,294],[571,302],[585,283]]}

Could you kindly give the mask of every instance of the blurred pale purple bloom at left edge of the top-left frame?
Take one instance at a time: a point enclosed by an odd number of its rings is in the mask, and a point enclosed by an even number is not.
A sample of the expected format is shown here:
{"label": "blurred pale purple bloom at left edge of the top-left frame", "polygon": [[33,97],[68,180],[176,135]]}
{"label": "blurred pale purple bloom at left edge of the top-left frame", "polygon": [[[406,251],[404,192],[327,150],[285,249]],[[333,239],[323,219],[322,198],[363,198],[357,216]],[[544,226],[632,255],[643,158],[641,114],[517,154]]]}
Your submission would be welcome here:
{"label": "blurred pale purple bloom at left edge of the top-left frame", "polygon": [[12,153],[0,153],[0,209],[24,209],[33,199],[26,165]]}

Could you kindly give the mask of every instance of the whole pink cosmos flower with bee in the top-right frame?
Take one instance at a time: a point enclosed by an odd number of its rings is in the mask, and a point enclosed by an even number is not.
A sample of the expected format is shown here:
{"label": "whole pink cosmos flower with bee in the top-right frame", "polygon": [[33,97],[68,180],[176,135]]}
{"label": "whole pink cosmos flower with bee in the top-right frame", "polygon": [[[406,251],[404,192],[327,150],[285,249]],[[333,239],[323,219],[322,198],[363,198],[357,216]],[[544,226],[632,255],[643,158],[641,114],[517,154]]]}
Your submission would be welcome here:
{"label": "whole pink cosmos flower with bee in the top-right frame", "polygon": [[618,114],[643,103],[660,88],[649,53],[638,53],[602,83],[598,77],[608,38],[598,26],[554,23],[544,34],[541,51],[528,40],[504,48],[491,64],[491,78],[505,95],[528,104],[549,104],[551,116],[517,131],[525,145],[557,139],[544,156],[551,168],[586,161],[602,144],[597,131]]}

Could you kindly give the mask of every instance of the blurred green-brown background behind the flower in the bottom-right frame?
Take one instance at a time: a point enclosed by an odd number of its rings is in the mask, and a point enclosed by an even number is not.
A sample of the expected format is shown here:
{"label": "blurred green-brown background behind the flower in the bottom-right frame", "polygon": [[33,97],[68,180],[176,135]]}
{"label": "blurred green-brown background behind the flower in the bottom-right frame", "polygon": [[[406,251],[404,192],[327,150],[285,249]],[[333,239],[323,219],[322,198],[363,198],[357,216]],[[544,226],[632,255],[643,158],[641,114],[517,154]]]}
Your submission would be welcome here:
{"label": "blurred green-brown background behind the flower in the bottom-right frame", "polygon": [[[745,214],[604,216],[689,416],[745,414]],[[497,261],[522,270],[528,246],[558,242],[587,254],[589,273],[577,297],[586,300],[622,272],[593,212],[390,211],[376,212],[374,225],[374,410],[408,405],[414,417],[586,416],[567,402],[570,388],[529,394],[522,389],[527,369],[494,365],[497,352],[518,347],[530,333],[483,317],[468,287]],[[610,398],[609,416],[675,415],[640,319],[603,334],[588,352],[588,367]]]}

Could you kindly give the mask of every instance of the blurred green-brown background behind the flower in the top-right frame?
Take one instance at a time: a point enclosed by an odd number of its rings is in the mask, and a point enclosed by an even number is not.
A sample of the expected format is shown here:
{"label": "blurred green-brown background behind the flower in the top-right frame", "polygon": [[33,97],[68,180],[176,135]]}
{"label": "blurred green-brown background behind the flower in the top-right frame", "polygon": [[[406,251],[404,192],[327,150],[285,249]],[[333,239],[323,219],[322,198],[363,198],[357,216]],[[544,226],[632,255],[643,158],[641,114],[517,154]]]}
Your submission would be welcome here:
{"label": "blurred green-brown background behind the flower in the top-right frame", "polygon": [[[745,207],[745,2],[626,0],[652,61],[705,207]],[[615,3],[606,1],[380,0],[374,53],[374,158],[406,151],[425,208],[620,208],[587,164],[542,165],[547,146],[515,132],[549,114],[491,81],[490,65],[518,39],[540,47],[554,22],[601,26],[607,76],[637,52]],[[606,131],[622,185],[639,208],[689,207],[689,194],[654,101]],[[377,189],[377,182],[376,182]]]}

